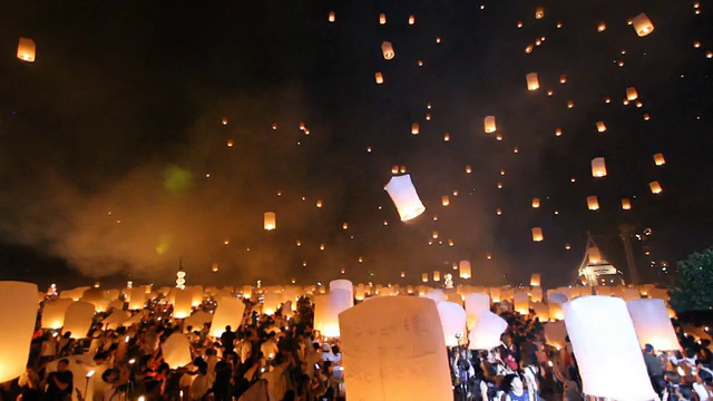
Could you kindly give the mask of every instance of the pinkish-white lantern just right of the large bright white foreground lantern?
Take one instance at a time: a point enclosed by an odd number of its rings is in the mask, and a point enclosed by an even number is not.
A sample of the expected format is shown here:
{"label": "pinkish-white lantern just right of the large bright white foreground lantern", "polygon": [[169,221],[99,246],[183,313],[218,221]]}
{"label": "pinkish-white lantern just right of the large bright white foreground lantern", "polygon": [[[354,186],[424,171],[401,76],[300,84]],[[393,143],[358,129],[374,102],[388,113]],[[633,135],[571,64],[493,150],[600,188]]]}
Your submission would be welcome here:
{"label": "pinkish-white lantern just right of the large bright white foreground lantern", "polygon": [[634,300],[626,303],[626,309],[634,322],[642,349],[646,344],[652,344],[656,351],[681,349],[664,300]]}

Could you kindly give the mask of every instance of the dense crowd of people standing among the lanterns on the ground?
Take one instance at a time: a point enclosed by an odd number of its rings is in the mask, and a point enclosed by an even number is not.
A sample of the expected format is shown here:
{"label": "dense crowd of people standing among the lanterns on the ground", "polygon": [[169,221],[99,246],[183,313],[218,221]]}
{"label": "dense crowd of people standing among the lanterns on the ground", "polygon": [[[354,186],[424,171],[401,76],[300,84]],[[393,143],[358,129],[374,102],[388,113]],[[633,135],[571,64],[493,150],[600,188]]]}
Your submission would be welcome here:
{"label": "dense crowd of people standing among the lanterns on the ground", "polygon": [[[140,320],[107,326],[110,313],[96,315],[84,339],[38,329],[25,374],[0,385],[0,401],[338,401],[346,398],[339,339],[313,329],[313,304],[301,297],[292,307],[262,314],[260,303],[243,300],[245,314],[219,338],[209,323],[187,325],[172,319],[165,300],[148,301]],[[215,303],[201,307],[211,313]],[[455,400],[583,400],[582,378],[572,346],[547,345],[544,324],[531,315],[500,311],[508,322],[501,345],[448,351]],[[40,310],[41,315],[41,310]],[[38,316],[38,327],[40,319]],[[173,333],[191,342],[193,362],[172,369],[162,344]],[[678,332],[683,354],[647,345],[644,361],[655,391],[665,400],[712,400],[710,340]],[[88,372],[72,373],[72,365]],[[76,370],[75,370],[76,372]],[[89,373],[90,372],[90,373]],[[96,372],[96,378],[91,375]],[[91,380],[91,387],[89,382]],[[89,400],[91,399],[91,400]]]}

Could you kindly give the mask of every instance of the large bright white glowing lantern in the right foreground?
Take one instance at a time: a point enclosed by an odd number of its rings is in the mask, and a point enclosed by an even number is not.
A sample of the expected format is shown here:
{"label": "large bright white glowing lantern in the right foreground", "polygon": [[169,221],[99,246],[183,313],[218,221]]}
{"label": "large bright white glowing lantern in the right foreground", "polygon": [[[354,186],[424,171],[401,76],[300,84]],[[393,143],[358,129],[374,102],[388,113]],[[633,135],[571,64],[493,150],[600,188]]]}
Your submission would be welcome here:
{"label": "large bright white glowing lantern in the right foreground", "polygon": [[617,400],[657,398],[624,301],[583,296],[566,303],[564,311],[585,394]]}

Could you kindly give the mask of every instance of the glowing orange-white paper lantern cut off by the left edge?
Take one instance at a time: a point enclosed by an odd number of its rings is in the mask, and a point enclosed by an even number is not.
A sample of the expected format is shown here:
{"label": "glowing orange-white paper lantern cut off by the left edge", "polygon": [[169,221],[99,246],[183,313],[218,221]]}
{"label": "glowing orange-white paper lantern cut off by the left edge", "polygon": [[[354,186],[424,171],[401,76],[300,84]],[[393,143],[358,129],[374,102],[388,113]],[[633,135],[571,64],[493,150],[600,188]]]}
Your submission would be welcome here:
{"label": "glowing orange-white paper lantern cut off by the left edge", "polygon": [[37,320],[37,284],[0,282],[0,383],[27,370]]}

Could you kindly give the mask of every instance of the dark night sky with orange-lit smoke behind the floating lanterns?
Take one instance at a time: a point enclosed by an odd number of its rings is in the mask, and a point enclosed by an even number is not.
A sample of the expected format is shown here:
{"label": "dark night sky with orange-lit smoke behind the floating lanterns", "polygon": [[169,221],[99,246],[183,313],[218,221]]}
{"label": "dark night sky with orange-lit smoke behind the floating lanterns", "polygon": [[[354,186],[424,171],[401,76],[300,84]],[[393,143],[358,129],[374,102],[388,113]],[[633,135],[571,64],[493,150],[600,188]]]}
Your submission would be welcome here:
{"label": "dark night sky with orange-lit smoke behind the floating lanterns", "polygon": [[[0,278],[168,284],[183,257],[187,284],[416,284],[470,260],[472,284],[541,272],[554,286],[574,278],[587,231],[626,272],[618,227],[632,224],[652,233],[634,243],[641,275],[662,280],[662,261],[713,244],[713,7],[694,4],[3,2]],[[645,37],[627,25],[641,12]],[[16,58],[20,37],[33,63]],[[641,107],[623,104],[627,87]],[[394,165],[427,207],[409,223],[383,190]]]}

